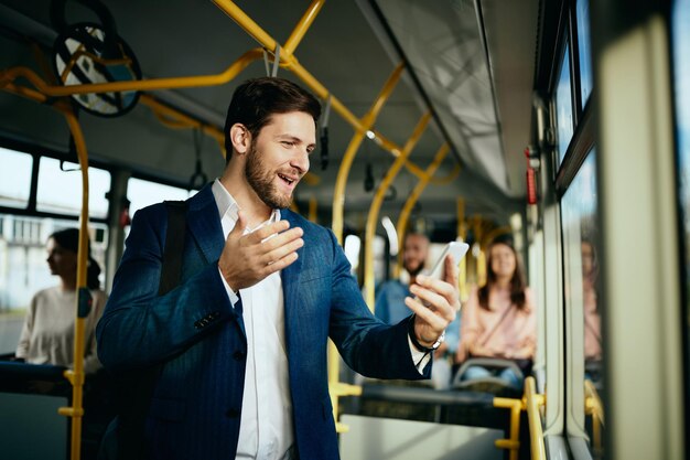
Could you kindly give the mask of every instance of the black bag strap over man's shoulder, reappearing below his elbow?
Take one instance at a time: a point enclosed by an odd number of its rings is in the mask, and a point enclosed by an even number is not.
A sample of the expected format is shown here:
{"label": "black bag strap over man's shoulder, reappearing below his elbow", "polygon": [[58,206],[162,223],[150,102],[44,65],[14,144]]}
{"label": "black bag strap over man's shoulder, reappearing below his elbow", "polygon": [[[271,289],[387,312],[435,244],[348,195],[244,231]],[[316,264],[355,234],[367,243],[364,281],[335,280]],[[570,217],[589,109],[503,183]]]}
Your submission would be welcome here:
{"label": "black bag strap over man's shoulder, reappearing below his elbow", "polygon": [[[168,210],[168,231],[158,288],[159,296],[170,292],[180,284],[186,233],[186,202],[166,201],[165,208]],[[163,364],[157,364],[120,382],[121,400],[117,448],[119,460],[137,460],[147,457],[144,425],[162,370]]]}

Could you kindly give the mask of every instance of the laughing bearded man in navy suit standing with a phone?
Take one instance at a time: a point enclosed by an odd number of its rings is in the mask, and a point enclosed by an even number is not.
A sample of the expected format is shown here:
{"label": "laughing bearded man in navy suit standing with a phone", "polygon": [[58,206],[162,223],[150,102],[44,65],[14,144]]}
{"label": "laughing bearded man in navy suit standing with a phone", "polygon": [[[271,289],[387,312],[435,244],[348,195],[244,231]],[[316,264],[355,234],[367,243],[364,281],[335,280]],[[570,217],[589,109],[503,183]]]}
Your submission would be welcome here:
{"label": "laughing bearded man in navy suit standing with a phone", "polygon": [[[237,88],[223,175],[187,201],[180,285],[159,296],[166,207],[133,218],[98,355],[115,375],[161,366],[143,424],[150,459],[337,459],[331,338],[356,372],[428,378],[459,307],[455,269],[419,277],[416,313],[376,319],[334,235],[288,210],[315,148],[319,101],[281,78]],[[450,281],[450,282],[449,282]]]}

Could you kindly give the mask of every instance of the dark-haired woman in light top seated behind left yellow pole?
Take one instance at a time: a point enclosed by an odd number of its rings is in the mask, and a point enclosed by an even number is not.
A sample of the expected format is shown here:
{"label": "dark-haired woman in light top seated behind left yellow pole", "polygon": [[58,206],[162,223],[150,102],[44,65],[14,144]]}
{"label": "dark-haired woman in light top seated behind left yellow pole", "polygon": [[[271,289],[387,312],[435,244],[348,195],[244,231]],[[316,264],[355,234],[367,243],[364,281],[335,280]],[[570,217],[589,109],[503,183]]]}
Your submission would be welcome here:
{"label": "dark-haired woman in light top seated behind left yellow pole", "polygon": [[[74,363],[74,323],[77,304],[77,250],[79,231],[66,228],[53,233],[46,243],[47,265],[60,285],[39,291],[33,299],[17,346],[15,360],[30,364],[54,364],[72,367]],[[85,321],[84,372],[100,368],[96,355],[96,323],[106,304],[106,293],[99,289],[100,267],[88,246],[86,284],[90,289],[91,311]]]}

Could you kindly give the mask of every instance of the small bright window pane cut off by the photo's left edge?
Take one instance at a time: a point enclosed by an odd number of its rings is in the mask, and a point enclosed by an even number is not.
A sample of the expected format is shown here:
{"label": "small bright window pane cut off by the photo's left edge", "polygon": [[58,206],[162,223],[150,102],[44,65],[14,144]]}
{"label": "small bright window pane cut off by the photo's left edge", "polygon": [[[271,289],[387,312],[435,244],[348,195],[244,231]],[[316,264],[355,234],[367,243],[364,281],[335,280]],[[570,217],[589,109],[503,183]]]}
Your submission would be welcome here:
{"label": "small bright window pane cut off by the photo's left edge", "polygon": [[0,147],[0,206],[26,207],[33,159],[28,153]]}

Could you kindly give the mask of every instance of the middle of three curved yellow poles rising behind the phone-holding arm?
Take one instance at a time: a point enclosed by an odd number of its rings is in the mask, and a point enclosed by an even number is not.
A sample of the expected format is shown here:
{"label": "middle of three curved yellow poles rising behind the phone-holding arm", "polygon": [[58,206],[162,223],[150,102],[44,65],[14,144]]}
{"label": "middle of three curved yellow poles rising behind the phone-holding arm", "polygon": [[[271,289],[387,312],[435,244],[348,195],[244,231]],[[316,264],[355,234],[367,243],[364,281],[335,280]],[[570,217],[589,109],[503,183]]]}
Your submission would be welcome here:
{"label": "middle of three curved yellow poles rising behind the phone-holding arm", "polygon": [[369,306],[369,310],[374,311],[374,234],[376,233],[376,225],[378,224],[378,213],[381,208],[381,204],[384,203],[384,196],[386,192],[388,192],[388,188],[392,183],[392,181],[400,172],[400,168],[405,163],[405,160],[408,158],[419,139],[424,133],[427,126],[429,125],[429,120],[431,120],[431,113],[427,113],[422,115],[417,127],[414,127],[414,131],[412,131],[412,136],[408,139],[405,145],[405,148],[400,152],[400,157],[393,161],[388,171],[386,171],[386,175],[381,181],[378,189],[376,189],[376,194],[374,195],[374,200],[371,202],[371,206],[369,207],[369,213],[367,215],[367,224],[365,227],[365,237],[364,237],[364,292],[365,300]]}

